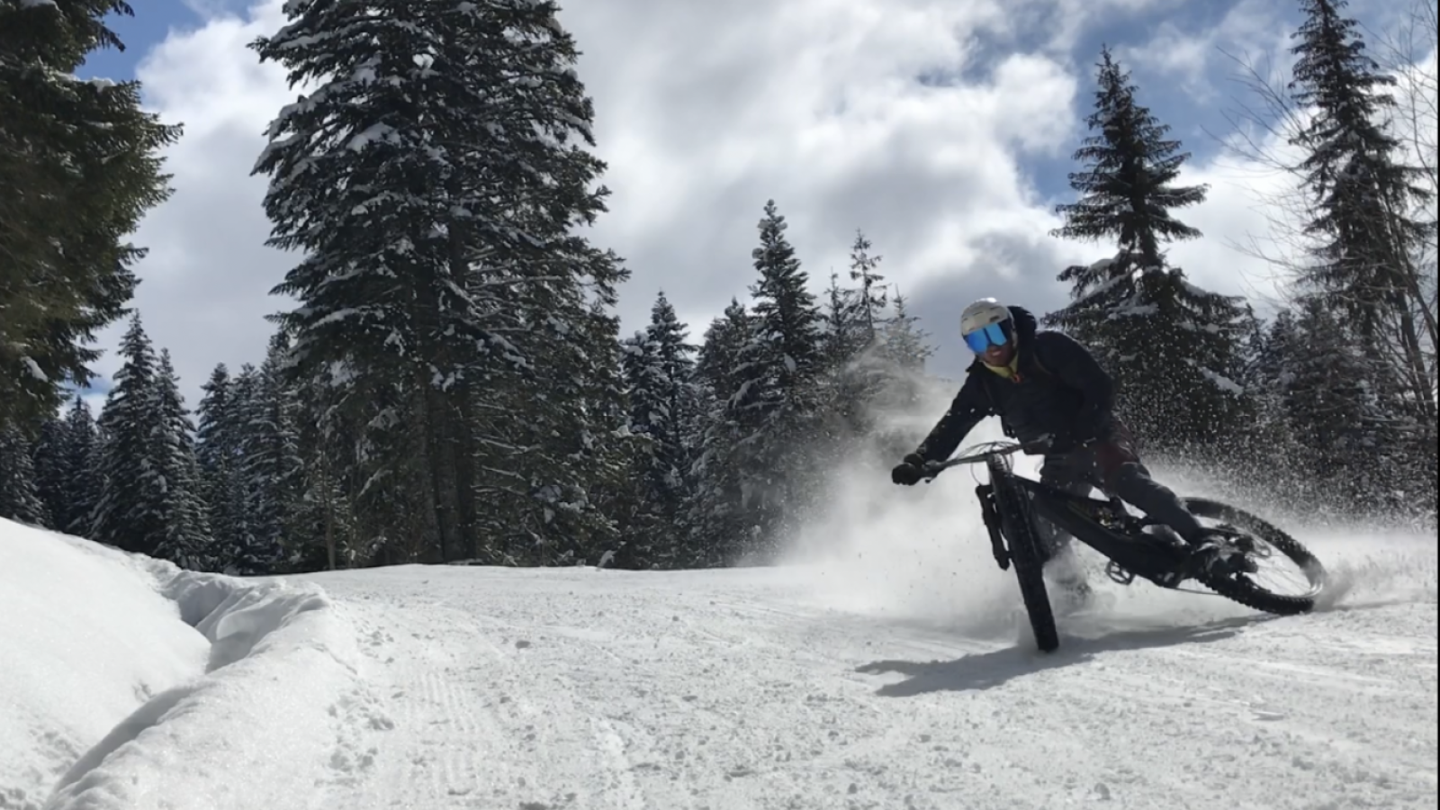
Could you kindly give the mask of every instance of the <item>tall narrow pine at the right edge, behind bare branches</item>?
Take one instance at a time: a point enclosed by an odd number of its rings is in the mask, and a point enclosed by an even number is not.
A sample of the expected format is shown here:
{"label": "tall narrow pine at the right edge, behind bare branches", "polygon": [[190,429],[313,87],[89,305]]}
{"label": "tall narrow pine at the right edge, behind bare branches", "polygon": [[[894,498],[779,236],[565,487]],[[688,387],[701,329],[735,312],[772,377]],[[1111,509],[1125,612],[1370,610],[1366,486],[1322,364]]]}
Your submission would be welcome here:
{"label": "tall narrow pine at the right edge, behind bare branches", "polygon": [[1306,19],[1292,48],[1295,102],[1315,110],[1290,141],[1309,151],[1299,166],[1313,206],[1305,232],[1318,241],[1302,282],[1345,313],[1362,340],[1392,349],[1391,385],[1407,391],[1411,419],[1421,425],[1411,447],[1430,450],[1433,467],[1436,376],[1426,356],[1437,344],[1434,274],[1416,258],[1433,244],[1434,222],[1414,212],[1434,200],[1421,186],[1424,170],[1403,163],[1404,147],[1385,127],[1395,78],[1365,53],[1359,25],[1341,16],[1346,6],[1302,0]]}

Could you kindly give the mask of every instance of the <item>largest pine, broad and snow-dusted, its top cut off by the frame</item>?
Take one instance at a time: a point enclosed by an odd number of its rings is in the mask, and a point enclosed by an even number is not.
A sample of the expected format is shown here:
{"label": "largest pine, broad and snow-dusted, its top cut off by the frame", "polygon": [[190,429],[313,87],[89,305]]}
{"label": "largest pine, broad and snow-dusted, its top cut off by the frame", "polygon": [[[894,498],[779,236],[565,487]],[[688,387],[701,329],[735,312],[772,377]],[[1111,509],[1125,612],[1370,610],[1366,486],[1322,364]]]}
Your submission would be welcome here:
{"label": "largest pine, broad and snow-dusted, its top cut off by the frame", "polygon": [[[256,166],[274,177],[271,244],[308,254],[276,288],[301,301],[281,319],[292,373],[341,363],[357,389],[405,392],[413,435],[376,442],[393,454],[374,463],[413,490],[393,502],[431,512],[406,520],[441,559],[488,552],[494,532],[553,546],[605,533],[583,476],[606,464],[562,445],[593,441],[575,424],[599,362],[582,344],[588,304],[625,271],[575,233],[608,190],[590,187],[593,110],[554,3],[287,9],[261,58],[295,81],[337,76],[281,112]],[[516,406],[543,412],[516,425]],[[490,497],[523,503],[490,512]],[[514,520],[480,530],[477,500]]]}

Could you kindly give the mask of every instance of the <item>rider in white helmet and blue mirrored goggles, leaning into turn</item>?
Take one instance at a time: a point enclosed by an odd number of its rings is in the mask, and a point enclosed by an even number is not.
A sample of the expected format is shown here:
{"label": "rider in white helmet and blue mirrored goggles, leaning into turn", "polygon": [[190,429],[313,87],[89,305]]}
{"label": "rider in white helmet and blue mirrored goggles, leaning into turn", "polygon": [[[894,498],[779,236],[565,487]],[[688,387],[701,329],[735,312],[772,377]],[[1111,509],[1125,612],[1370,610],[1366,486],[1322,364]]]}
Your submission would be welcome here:
{"label": "rider in white helmet and blue mirrored goggles, leaning into turn", "polygon": [[[998,415],[1005,435],[1021,444],[1048,437],[1043,483],[1077,496],[1099,487],[1174,529],[1195,549],[1197,564],[1220,558],[1207,543],[1208,529],[1140,463],[1135,438],[1113,414],[1115,382],[1089,349],[1064,333],[1037,331],[1034,314],[995,298],[965,307],[960,334],[975,362],[930,435],[891,470],[896,484],[919,483],[926,461],[949,458],[981,419]],[[1051,558],[1068,548],[1068,535],[1048,520],[1038,523]],[[1074,571],[1063,584],[1086,589],[1080,577]]]}

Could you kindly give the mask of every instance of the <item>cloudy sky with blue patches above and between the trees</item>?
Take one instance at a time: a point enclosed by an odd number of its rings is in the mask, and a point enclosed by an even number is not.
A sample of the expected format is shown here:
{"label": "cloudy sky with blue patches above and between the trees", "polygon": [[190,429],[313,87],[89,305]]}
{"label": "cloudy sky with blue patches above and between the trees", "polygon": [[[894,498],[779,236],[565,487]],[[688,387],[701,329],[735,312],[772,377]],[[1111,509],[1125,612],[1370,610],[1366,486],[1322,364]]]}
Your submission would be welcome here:
{"label": "cloudy sky with blue patches above and between the trees", "polygon": [[[1382,27],[1403,4],[1354,0],[1351,13]],[[261,133],[295,94],[246,48],[284,23],[282,0],[132,6],[137,16],[114,25],[127,50],[98,53],[81,74],[141,79],[145,104],[186,127],[168,151],[174,196],[135,236],[150,248],[135,307],[174,355],[193,406],[217,362],[259,362],[271,333],[262,316],[287,306],[268,291],[294,257],[264,245],[266,179],[249,172]],[[958,372],[968,356],[955,323],[968,301],[1053,310],[1067,294],[1056,274],[1110,251],[1047,235],[1054,205],[1073,199],[1066,173],[1102,43],[1194,151],[1185,180],[1212,186],[1182,213],[1207,238],[1174,246],[1172,259],[1200,285],[1263,297],[1272,271],[1234,245],[1267,235],[1259,206],[1284,180],[1217,140],[1243,95],[1224,52],[1283,66],[1296,6],[570,0],[560,22],[583,50],[613,190],[593,235],[634,271],[625,329],[642,326],[661,288],[696,340],[730,297],[746,300],[756,223],[773,197],[816,291],[845,272],[864,229],[880,271],[940,346],[935,370]],[[99,363],[115,368],[112,353]]]}

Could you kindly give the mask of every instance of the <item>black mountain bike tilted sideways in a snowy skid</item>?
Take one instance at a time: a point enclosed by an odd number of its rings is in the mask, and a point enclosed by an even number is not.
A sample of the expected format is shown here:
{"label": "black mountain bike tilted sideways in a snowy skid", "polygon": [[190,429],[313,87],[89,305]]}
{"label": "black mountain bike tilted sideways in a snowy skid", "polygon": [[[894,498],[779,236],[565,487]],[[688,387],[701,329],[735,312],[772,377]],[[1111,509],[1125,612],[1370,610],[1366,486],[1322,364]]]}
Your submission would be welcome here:
{"label": "black mountain bike tilted sideways in a snowy skid", "polygon": [[[965,455],[922,467],[929,483],[950,467],[985,464],[989,481],[975,487],[981,515],[995,562],[1001,571],[1015,568],[1030,627],[1041,651],[1060,647],[1060,636],[1043,577],[1050,549],[1040,540],[1037,519],[1048,520],[1104,555],[1109,559],[1106,575],[1120,585],[1142,578],[1161,588],[1182,589],[1181,582],[1195,579],[1214,591],[1212,595],[1263,613],[1295,615],[1315,607],[1325,587],[1325,566],[1273,523],[1218,500],[1181,497],[1197,519],[1218,522],[1207,528],[1215,533],[1220,562],[1200,568],[1194,562],[1192,546],[1179,533],[1151,517],[1132,515],[1120,499],[1076,496],[1017,474],[1009,457],[1022,450],[1043,453],[1044,444],[985,442],[966,448]],[[1260,564],[1276,559],[1276,552],[1300,569],[1305,585],[1299,594],[1280,594],[1256,582],[1253,575]]]}

